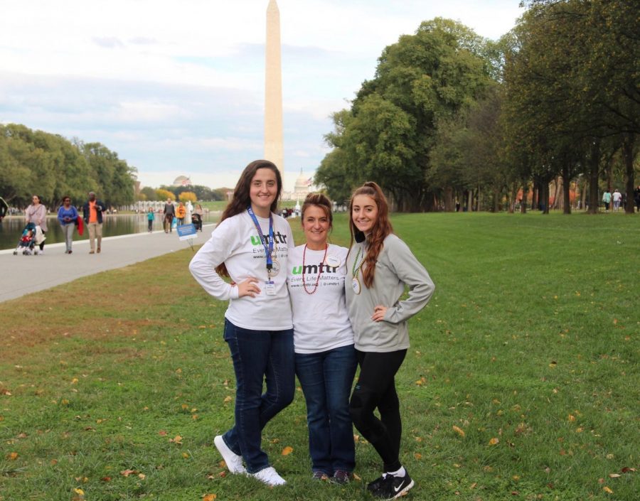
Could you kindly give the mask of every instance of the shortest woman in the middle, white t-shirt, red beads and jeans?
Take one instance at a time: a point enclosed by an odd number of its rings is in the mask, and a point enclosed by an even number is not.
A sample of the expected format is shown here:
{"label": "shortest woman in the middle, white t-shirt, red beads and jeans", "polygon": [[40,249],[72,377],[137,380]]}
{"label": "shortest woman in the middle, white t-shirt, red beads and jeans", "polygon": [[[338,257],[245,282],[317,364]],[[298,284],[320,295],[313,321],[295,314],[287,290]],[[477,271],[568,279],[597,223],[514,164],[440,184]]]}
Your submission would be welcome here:
{"label": "shortest woman in the middle, white t-shirt, red beads and jeans", "polygon": [[302,205],[306,244],[289,256],[296,374],[306,400],[313,478],[347,483],[356,464],[349,394],[356,374],[346,309],[345,247],[327,243],[331,202],[311,193]]}

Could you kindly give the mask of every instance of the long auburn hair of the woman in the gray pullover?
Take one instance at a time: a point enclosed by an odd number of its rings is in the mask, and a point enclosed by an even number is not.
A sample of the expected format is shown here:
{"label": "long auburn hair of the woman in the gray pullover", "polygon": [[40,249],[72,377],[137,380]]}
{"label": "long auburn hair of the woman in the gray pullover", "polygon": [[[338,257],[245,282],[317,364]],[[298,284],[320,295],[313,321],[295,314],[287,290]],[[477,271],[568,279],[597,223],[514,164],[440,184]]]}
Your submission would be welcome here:
{"label": "long auburn hair of the woman in the gray pullover", "polygon": [[[373,227],[368,235],[358,230],[353,224],[353,199],[358,195],[366,195],[373,198],[375,205],[378,207],[378,219],[373,223]],[[383,249],[383,242],[388,235],[393,233],[393,227],[389,221],[389,205],[384,193],[378,184],[373,181],[367,181],[360,188],[356,189],[349,200],[349,232],[351,232],[351,242],[349,248],[353,246],[353,239],[362,242],[366,238],[367,253],[364,257],[364,263],[361,268],[362,279],[367,288],[373,286],[373,277],[375,275],[375,262],[378,261],[378,255]]]}

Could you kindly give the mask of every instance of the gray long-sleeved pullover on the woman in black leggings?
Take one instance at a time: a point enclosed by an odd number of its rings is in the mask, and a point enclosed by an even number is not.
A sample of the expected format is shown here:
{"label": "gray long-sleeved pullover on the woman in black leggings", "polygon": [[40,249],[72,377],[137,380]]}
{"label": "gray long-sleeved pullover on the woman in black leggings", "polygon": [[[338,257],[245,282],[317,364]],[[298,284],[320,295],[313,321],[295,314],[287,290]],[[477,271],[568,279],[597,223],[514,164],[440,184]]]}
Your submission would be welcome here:
{"label": "gray long-sleeved pullover on the woman in black leggings", "polygon": [[[407,244],[392,234],[385,238],[375,263],[373,286],[367,289],[360,271],[360,293],[356,294],[351,282],[358,249],[361,251],[356,266],[366,252],[366,242],[351,247],[347,259],[348,276],[344,284],[356,349],[365,352],[406,350],[409,348],[407,320],[429,302],[435,290],[433,281]],[[399,301],[405,285],[409,287],[409,297]],[[378,305],[388,308],[381,322],[371,320],[373,308]]]}

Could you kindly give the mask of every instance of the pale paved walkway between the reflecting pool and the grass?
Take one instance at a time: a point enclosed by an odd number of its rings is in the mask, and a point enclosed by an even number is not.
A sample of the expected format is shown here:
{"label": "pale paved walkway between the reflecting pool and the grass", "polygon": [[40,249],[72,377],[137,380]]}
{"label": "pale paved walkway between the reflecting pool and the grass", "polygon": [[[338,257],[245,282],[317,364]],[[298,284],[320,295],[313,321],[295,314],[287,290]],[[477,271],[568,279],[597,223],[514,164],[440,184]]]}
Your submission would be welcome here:
{"label": "pale paved walkway between the reflecting pool and the grass", "polygon": [[[214,226],[204,225],[193,244],[206,242]],[[73,242],[73,254],[65,254],[64,243],[45,245],[41,256],[14,256],[14,249],[0,250],[0,302],[188,247],[177,232],[157,231],[103,238],[100,254],[89,254],[88,240]]]}

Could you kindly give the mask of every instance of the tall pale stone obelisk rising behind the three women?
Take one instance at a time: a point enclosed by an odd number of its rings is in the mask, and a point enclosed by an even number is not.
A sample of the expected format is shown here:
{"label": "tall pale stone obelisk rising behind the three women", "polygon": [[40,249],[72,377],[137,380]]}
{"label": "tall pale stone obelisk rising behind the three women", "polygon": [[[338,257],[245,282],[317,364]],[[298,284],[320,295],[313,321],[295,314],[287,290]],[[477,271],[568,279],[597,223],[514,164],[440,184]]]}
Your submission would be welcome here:
{"label": "tall pale stone obelisk rising behind the three women", "polygon": [[265,54],[265,160],[275,163],[280,175],[284,178],[280,11],[276,0],[269,0],[269,6],[267,6]]}

